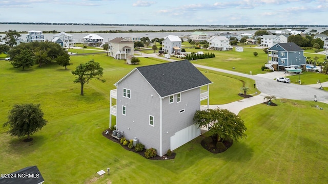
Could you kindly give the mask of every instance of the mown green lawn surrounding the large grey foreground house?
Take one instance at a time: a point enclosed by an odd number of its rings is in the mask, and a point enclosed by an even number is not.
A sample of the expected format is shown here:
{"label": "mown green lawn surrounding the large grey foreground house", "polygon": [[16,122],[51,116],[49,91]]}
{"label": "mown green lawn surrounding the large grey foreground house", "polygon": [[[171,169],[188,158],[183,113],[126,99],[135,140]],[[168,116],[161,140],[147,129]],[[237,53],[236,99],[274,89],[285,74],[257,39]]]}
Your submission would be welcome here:
{"label": "mown green lawn surrounding the large grey foreground house", "polygon": [[[79,95],[71,71],[94,59],[104,68],[106,83],[92,80]],[[32,142],[0,129],[1,173],[37,165],[47,183],[326,183],[328,104],[282,99],[278,106],[259,104],[240,112],[248,138],[226,152],[213,154],[200,146],[201,136],[176,149],[174,160],[148,160],[107,140],[109,91],[134,67],[162,63],[140,58],[127,65],[103,54],[72,56],[73,65],[52,63],[28,70],[0,62],[0,126],[17,103],[40,103],[48,120]],[[198,62],[198,61],[197,61]],[[238,100],[244,82],[254,81],[209,71],[210,103]],[[243,82],[242,82],[243,81]],[[251,88],[250,93],[255,92]],[[323,110],[313,108],[318,104]],[[103,177],[96,172],[110,168]]]}

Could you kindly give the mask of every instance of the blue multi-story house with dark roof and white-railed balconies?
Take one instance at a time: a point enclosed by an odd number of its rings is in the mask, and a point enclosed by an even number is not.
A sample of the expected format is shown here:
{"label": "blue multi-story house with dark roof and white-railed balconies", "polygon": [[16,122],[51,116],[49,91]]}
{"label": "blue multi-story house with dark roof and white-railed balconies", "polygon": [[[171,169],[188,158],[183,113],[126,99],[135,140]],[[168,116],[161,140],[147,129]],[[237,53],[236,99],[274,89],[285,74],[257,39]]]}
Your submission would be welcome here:
{"label": "blue multi-story house with dark roof and white-railed balconies", "polygon": [[291,67],[305,69],[306,57],[304,51],[293,42],[277,43],[268,49],[268,64],[272,70],[284,70]]}

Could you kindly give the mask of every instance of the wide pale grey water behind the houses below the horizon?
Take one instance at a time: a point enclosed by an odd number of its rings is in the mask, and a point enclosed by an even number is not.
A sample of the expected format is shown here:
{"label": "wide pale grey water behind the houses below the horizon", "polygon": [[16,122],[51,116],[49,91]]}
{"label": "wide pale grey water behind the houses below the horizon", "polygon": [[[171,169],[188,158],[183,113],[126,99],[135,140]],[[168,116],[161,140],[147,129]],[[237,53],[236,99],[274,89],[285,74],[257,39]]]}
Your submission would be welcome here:
{"label": "wide pale grey water behind the houses below the horizon", "polygon": [[[215,30],[215,29],[221,29],[221,30],[228,30],[232,29],[229,27],[219,27],[219,26],[199,26],[199,27],[193,27],[193,26],[84,26],[84,25],[8,25],[8,24],[0,24],[0,32],[5,32],[8,30],[16,30],[16,31],[31,31],[31,30],[37,30],[37,31],[57,31],[57,32],[79,32],[79,31],[115,31],[115,30],[121,30],[121,31],[170,31],[170,30],[195,30],[195,29],[206,29],[206,30]],[[263,27],[263,29],[267,29],[267,27]],[[309,30],[315,29],[318,32],[323,32],[328,28],[324,27],[309,27]],[[238,29],[235,29],[235,31],[229,31],[229,32],[236,32],[238,34],[240,33],[251,33],[254,34],[256,30],[253,31],[240,31]],[[186,32],[156,32],[156,33],[96,33],[97,35],[104,38],[104,40],[108,41],[111,39],[114,39],[116,37],[149,37],[150,39],[153,38],[163,38],[168,35],[175,35],[175,36],[183,36],[191,34],[192,31],[186,31]],[[210,35],[214,35],[217,33],[226,33],[226,31],[208,31],[206,32]],[[76,42],[82,42],[83,37],[87,36],[89,33],[72,33],[73,38]],[[5,36],[5,34],[0,34],[1,36]],[[22,39],[26,40],[26,36],[24,34],[22,35]],[[44,34],[45,38],[47,40],[52,40],[54,34]]]}

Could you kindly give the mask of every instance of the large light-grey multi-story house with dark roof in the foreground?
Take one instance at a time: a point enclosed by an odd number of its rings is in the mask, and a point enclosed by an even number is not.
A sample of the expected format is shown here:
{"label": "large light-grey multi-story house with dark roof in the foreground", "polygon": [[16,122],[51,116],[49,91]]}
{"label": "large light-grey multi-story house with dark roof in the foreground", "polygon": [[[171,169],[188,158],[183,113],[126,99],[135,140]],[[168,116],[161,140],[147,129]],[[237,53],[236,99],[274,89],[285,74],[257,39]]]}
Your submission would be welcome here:
{"label": "large light-grey multi-story house with dark roof in the foreground", "polygon": [[109,125],[116,116],[116,129],[127,140],[136,137],[165,155],[200,135],[193,117],[200,101],[209,107],[211,83],[188,60],[136,67],[110,92]]}

